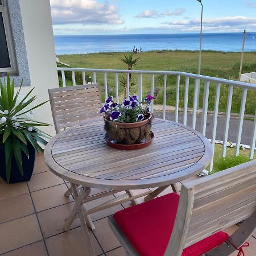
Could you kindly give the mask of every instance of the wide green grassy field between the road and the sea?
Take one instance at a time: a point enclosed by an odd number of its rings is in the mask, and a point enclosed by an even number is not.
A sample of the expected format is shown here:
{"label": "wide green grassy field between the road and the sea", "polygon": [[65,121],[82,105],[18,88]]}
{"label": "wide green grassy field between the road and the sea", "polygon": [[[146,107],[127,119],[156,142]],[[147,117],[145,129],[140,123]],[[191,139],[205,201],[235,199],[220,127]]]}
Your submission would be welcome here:
{"label": "wide green grassy field between the road and the sea", "polygon": [[[196,51],[151,51],[137,54],[134,57],[140,57],[139,64],[135,66],[137,70],[152,71],[183,71],[189,73],[197,73],[197,62],[199,53]],[[101,69],[126,69],[120,59],[123,53],[91,53],[86,55],[61,55],[59,60],[68,63],[71,67],[76,68],[101,68]],[[241,53],[236,52],[216,52],[203,51],[201,75],[220,77],[223,79],[238,80],[240,68]],[[256,71],[256,52],[246,52],[244,55],[244,64],[242,73]],[[92,74],[87,74],[92,76]],[[72,85],[71,73],[66,72],[67,84]],[[120,76],[121,78],[121,76]],[[61,86],[61,76],[59,77]],[[138,77],[134,75],[134,80]],[[81,73],[76,73],[77,84],[82,82]],[[100,82],[102,92],[104,86],[104,74],[97,75],[97,82]],[[193,88],[195,81],[190,80],[189,83],[189,100],[188,107],[193,106]],[[151,76],[143,75],[143,94],[150,93]],[[211,84],[209,92],[209,110],[214,108],[215,84]],[[108,75],[108,91],[109,94],[115,96],[114,75]],[[138,86],[133,86],[133,93],[137,93]],[[200,105],[203,102],[204,83],[200,84]],[[120,86],[119,95],[123,96],[123,88]],[[234,88],[232,112],[239,113],[241,104],[241,89]],[[163,104],[163,76],[155,76],[155,104]],[[225,112],[226,101],[228,97],[228,86],[221,86],[220,106],[219,110]],[[180,100],[179,106],[183,108],[184,98],[184,78],[180,81]],[[167,77],[167,105],[175,105],[176,101],[176,77]],[[254,114],[256,108],[256,90],[249,90],[246,101],[246,114]]]}

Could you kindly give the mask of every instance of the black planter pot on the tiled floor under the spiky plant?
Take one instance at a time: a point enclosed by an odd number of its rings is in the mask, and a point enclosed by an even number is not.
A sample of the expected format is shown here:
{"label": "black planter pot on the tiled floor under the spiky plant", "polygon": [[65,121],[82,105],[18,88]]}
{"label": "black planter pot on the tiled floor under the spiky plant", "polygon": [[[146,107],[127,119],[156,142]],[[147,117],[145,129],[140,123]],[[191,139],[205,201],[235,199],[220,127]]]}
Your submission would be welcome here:
{"label": "black planter pot on the tiled floor under the spiky plant", "polygon": [[[22,151],[22,166],[23,166],[23,176],[19,172],[19,168],[16,164],[15,157],[13,155],[11,162],[11,176],[9,183],[17,183],[22,181],[28,181],[31,179],[32,172],[35,166],[36,159],[36,150],[35,148],[28,143],[27,145],[28,153],[30,154],[30,158],[28,159],[26,154]],[[5,165],[5,146],[0,146],[0,176],[3,180],[7,182],[6,179],[6,165]]]}

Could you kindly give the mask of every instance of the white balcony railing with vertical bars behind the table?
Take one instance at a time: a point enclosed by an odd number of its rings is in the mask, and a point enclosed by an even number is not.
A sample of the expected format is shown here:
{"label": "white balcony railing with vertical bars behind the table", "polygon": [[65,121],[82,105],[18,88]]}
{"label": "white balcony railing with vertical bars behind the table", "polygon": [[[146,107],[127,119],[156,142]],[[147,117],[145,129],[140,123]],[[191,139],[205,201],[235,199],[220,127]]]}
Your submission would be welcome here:
{"label": "white balcony railing with vertical bars behind the table", "polygon": [[[129,81],[129,74],[137,74],[138,75],[138,97],[139,100],[142,100],[142,79],[143,75],[151,75],[151,94],[154,96],[154,84],[155,84],[155,75],[163,76],[163,118],[166,119],[166,98],[167,98],[167,76],[176,76],[176,104],[175,104],[175,117],[174,121],[178,122],[180,108],[179,108],[179,101],[180,99],[180,79],[184,77],[185,79],[185,88],[184,88],[184,108],[183,108],[183,118],[182,122],[184,125],[187,124],[187,117],[188,117],[188,97],[189,97],[189,86],[194,86],[194,93],[193,93],[193,109],[192,109],[192,124],[191,127],[196,129],[196,119],[197,119],[197,102],[199,101],[199,90],[200,90],[200,82],[204,81],[203,86],[203,108],[201,113],[201,125],[200,131],[205,135],[206,127],[207,127],[207,118],[208,118],[208,100],[209,100],[209,89],[210,86],[214,84],[216,86],[215,91],[215,101],[214,101],[214,110],[213,110],[213,125],[212,125],[212,133],[210,136],[210,141],[212,142],[212,148],[214,152],[214,146],[216,143],[216,130],[217,130],[217,119],[218,119],[218,112],[219,112],[219,102],[220,102],[220,92],[221,86],[228,86],[228,98],[226,102],[226,116],[225,116],[225,125],[223,127],[223,140],[222,140],[222,156],[226,156],[226,146],[228,143],[228,135],[229,135],[229,125],[230,125],[230,115],[231,115],[231,108],[232,108],[232,97],[233,97],[233,90],[234,88],[238,87],[242,90],[242,97],[241,97],[241,106],[240,106],[240,114],[239,114],[239,121],[237,125],[237,136],[236,136],[236,150],[235,154],[238,156],[240,154],[240,145],[241,145],[241,136],[242,136],[242,128],[243,128],[243,119],[245,115],[245,104],[246,104],[246,97],[248,90],[256,90],[255,84],[249,84],[246,82],[239,82],[239,81],[232,81],[226,79],[219,79],[216,77],[209,77],[209,76],[202,76],[202,75],[195,75],[192,73],[184,73],[184,72],[175,72],[175,71],[127,71],[127,70],[118,70],[118,69],[89,69],[89,68],[57,68],[58,71],[61,71],[62,76],[62,84],[63,86],[67,85],[65,79],[65,71],[72,72],[72,85],[76,85],[76,74],[77,72],[81,72],[82,74],[82,83],[86,84],[86,75],[92,74],[92,82],[97,82],[98,77],[102,77],[104,81],[104,93],[105,98],[108,98],[108,75],[110,73],[114,74],[114,88],[115,88],[115,96],[117,98],[117,102],[119,102],[119,81],[118,76],[120,74],[125,74],[127,77],[127,88],[126,92],[129,94],[130,92],[130,81]],[[193,84],[189,84],[189,79],[193,79]],[[90,81],[91,82],[91,81]],[[255,98],[256,101],[256,98]],[[154,104],[154,103],[153,103]],[[152,110],[154,110],[152,106]],[[255,141],[256,141],[256,109],[255,109],[255,116],[254,122],[252,122],[253,131],[250,135],[250,145],[247,145],[250,148],[249,157],[253,159],[254,150],[255,150]],[[210,171],[213,170],[213,159],[210,162]]]}

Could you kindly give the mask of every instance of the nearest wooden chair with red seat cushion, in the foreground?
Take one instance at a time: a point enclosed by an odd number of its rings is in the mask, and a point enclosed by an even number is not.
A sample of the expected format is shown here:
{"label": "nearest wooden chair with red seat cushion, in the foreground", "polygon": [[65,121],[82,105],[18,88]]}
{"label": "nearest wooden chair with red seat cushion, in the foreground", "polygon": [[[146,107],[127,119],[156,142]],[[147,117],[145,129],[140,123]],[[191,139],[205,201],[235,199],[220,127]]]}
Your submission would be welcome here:
{"label": "nearest wooden chair with red seat cushion, in the foreground", "polygon": [[[129,256],[243,255],[256,227],[256,160],[185,183],[109,218]],[[224,229],[243,221],[229,236]]]}

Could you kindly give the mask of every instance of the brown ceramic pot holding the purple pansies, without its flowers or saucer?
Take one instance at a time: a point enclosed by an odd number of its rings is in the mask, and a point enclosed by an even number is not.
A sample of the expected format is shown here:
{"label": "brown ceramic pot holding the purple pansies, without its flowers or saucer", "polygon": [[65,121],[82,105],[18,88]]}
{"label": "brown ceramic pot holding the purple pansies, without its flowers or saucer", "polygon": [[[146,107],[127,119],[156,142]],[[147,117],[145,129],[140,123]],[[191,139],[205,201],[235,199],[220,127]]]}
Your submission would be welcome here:
{"label": "brown ceramic pot holding the purple pansies, without its flowers or saucer", "polygon": [[104,117],[104,129],[108,137],[112,138],[118,144],[137,144],[151,139],[151,120],[152,115],[146,114],[146,119],[134,123],[120,123],[110,121],[109,115]]}

